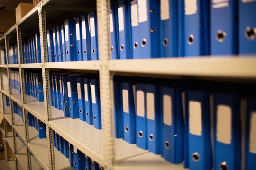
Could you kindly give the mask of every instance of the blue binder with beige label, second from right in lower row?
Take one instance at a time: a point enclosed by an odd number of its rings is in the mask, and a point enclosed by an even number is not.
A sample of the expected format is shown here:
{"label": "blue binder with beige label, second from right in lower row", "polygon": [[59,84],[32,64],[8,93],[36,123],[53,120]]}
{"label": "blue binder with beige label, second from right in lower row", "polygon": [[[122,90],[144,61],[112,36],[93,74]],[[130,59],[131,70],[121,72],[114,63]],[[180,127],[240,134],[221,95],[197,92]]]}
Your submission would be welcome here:
{"label": "blue binder with beige label, second from right in lower row", "polygon": [[214,94],[215,170],[241,168],[240,100],[236,94]]}

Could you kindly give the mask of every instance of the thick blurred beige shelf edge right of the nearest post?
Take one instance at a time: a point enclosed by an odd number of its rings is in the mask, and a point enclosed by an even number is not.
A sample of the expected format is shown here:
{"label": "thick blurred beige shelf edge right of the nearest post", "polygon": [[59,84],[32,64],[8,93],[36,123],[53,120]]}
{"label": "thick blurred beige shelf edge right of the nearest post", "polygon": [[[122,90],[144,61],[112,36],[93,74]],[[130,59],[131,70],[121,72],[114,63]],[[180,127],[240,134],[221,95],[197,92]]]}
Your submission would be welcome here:
{"label": "thick blurred beige shelf edge right of the nearest post", "polygon": [[124,59],[109,64],[112,72],[256,78],[256,56]]}

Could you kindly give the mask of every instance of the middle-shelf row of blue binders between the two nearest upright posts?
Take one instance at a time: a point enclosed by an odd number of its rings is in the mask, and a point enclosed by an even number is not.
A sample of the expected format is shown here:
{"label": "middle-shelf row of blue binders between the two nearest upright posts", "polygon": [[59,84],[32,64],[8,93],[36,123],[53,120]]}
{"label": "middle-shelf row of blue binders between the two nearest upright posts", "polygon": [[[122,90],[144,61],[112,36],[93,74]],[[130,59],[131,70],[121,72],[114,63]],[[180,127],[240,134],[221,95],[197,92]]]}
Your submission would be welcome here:
{"label": "middle-shelf row of blue binders between the two nearest upright posts", "polygon": [[97,75],[50,74],[51,104],[65,117],[79,118],[101,129],[100,85]]}

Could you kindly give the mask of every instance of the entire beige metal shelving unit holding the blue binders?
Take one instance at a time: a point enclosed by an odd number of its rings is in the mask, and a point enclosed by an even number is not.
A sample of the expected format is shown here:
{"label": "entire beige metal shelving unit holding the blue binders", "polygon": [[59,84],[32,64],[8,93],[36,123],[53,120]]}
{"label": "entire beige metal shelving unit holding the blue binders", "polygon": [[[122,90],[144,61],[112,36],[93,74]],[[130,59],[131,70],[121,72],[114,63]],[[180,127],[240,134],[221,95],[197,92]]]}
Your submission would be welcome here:
{"label": "entire beige metal shelving unit holding the blue binders", "polygon": [[[96,2],[96,3],[95,3]],[[59,25],[67,18],[88,13],[97,8],[99,61],[75,61],[49,63],[47,58],[46,29]],[[114,111],[113,111],[113,77],[115,75],[129,76],[192,76],[200,78],[232,79],[238,81],[255,81],[255,56],[215,56],[189,58],[161,58],[161,59],[127,59],[111,60],[110,35],[108,28],[108,11],[110,0],[42,0],[20,22],[12,26],[0,41],[5,41],[7,60],[9,59],[9,42],[15,37],[18,44],[19,64],[5,65],[0,63],[1,84],[0,93],[10,97],[10,101],[17,102],[23,108],[22,119],[13,113],[13,104],[4,105],[6,121],[13,125],[15,131],[25,144],[24,154],[16,156],[21,167],[34,169],[34,162],[38,161],[46,170],[70,169],[68,160],[54,148],[53,130],[64,137],[69,143],[85,153],[92,160],[98,162],[105,170],[180,170],[183,164],[174,165],[165,161],[159,155],[137,148],[136,144],[128,144],[122,139],[115,139]],[[56,19],[57,18],[57,19]],[[35,33],[30,28],[38,28],[40,32],[42,63],[23,64],[21,38],[32,36]],[[13,34],[15,33],[15,35]],[[21,36],[22,34],[22,36]],[[1,60],[1,59],[0,59]],[[18,68],[21,80],[21,94],[10,86],[10,68]],[[25,94],[24,70],[40,69],[43,76],[44,102]],[[88,73],[97,73],[100,77],[101,93],[101,122],[102,130],[95,129],[79,119],[65,118],[64,112],[50,105],[49,72],[51,70],[69,70]],[[4,72],[4,73],[3,73]],[[7,81],[7,80],[8,81]],[[231,81],[232,81],[231,80]],[[4,101],[4,100],[3,100]],[[37,131],[27,125],[27,111],[46,123],[45,139],[38,139]],[[9,114],[6,114],[9,113]],[[82,130],[78,130],[82,129]],[[4,129],[1,129],[4,132]],[[5,133],[5,132],[4,132]],[[12,133],[14,134],[14,133]],[[20,143],[13,138],[13,150],[19,151]],[[9,141],[11,138],[8,138]],[[21,142],[21,141],[20,141]],[[30,152],[34,157],[30,156]],[[16,152],[17,153],[17,152]],[[13,162],[13,161],[9,161]],[[16,161],[18,166],[18,162]],[[32,165],[32,166],[31,166]]]}

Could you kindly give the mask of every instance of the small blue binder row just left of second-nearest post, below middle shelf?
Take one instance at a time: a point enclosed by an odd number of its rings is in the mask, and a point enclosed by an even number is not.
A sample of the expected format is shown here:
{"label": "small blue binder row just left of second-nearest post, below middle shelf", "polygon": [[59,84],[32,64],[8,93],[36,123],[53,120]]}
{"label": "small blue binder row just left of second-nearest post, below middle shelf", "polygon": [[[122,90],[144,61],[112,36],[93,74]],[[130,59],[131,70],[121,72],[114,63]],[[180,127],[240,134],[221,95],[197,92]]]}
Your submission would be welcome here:
{"label": "small blue binder row just left of second-nearest post, below middle shelf", "polygon": [[38,138],[46,138],[46,124],[27,112],[28,125],[34,127],[38,132]]}

